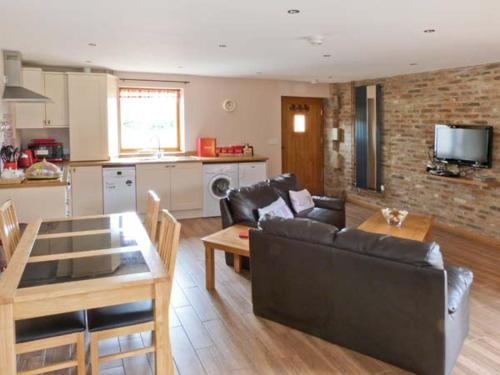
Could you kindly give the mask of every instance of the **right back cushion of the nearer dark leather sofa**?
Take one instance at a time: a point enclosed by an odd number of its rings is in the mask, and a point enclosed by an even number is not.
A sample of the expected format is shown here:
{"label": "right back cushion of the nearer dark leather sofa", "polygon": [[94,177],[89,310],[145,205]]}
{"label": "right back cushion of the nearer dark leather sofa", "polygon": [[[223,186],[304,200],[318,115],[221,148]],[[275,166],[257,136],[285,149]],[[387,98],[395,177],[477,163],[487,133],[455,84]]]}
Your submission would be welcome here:
{"label": "right back cushion of the nearer dark leather sofa", "polygon": [[444,267],[443,256],[435,242],[424,243],[359,229],[344,229],[335,236],[333,246],[417,267]]}

